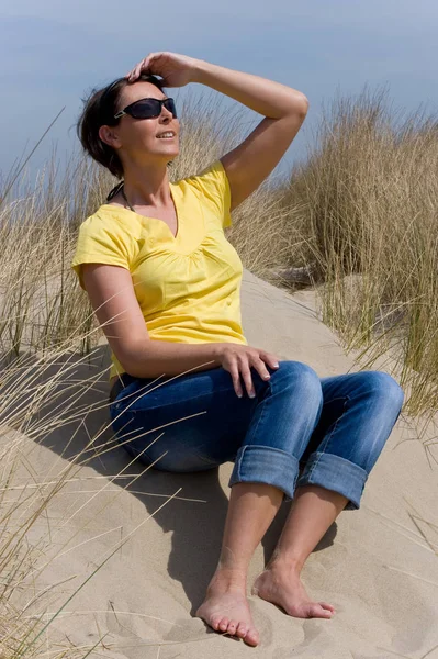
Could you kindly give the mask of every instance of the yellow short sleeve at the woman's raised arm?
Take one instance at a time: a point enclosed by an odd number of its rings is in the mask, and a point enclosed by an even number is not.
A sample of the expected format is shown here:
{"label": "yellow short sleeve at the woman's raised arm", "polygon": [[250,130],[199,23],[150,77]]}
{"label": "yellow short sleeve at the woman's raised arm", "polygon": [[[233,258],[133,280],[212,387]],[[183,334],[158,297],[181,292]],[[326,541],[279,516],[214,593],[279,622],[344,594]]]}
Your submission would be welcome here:
{"label": "yellow short sleeve at the woman's raised arm", "polygon": [[232,194],[228,177],[220,159],[214,160],[196,176],[187,179],[212,204],[221,219],[222,226],[232,226]]}

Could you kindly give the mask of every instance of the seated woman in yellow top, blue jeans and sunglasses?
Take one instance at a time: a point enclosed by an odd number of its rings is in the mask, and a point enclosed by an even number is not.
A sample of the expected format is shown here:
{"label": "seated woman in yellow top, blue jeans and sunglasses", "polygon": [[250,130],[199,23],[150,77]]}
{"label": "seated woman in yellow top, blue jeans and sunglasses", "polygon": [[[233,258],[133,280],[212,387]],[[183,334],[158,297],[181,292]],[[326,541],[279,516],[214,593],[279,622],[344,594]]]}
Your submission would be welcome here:
{"label": "seated woman in yellow top, blue jeans and sunglasses", "polygon": [[[180,124],[162,87],[189,82],[265,119],[201,174],[170,183]],[[112,425],[132,456],[157,469],[235,462],[222,550],[196,616],[251,646],[259,634],[247,568],[284,495],[291,511],[252,592],[292,616],[335,613],[312,601],[300,573],[337,515],[359,509],[404,400],[385,372],[319,378],[299,361],[279,365],[243,334],[243,268],[224,227],[280,161],[307,107],[278,82],[151,53],[93,93],[78,124],[85,149],[123,177],[81,224],[72,261],[112,349]]]}

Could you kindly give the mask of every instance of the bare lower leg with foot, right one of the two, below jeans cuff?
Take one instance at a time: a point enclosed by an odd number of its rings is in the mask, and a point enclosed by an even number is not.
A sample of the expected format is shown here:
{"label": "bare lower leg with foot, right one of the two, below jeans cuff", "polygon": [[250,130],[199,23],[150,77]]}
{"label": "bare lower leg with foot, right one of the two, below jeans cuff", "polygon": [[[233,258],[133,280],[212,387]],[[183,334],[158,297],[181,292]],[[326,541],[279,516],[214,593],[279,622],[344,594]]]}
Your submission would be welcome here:
{"label": "bare lower leg with foot, right one of the two, below jeans cuff", "polygon": [[295,617],[332,617],[332,604],[312,602],[300,579],[311,551],[344,510],[348,499],[317,485],[297,488],[283,532],[252,593]]}

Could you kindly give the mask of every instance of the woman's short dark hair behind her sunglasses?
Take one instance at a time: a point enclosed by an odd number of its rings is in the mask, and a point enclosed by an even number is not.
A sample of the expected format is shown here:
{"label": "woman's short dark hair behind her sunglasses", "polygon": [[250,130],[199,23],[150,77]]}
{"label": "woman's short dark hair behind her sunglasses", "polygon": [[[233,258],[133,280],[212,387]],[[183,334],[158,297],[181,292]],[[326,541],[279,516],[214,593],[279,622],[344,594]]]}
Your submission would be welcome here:
{"label": "woman's short dark hair behind her sunglasses", "polygon": [[[164,89],[162,80],[146,72],[142,72],[136,81],[151,82],[160,91]],[[130,85],[127,78],[117,78],[103,89],[92,89],[89,97],[82,99],[85,107],[77,122],[77,134],[83,149],[120,179],[123,177],[122,161],[117,152],[99,137],[99,129],[117,125],[120,119],[114,119],[114,114],[126,85]]]}

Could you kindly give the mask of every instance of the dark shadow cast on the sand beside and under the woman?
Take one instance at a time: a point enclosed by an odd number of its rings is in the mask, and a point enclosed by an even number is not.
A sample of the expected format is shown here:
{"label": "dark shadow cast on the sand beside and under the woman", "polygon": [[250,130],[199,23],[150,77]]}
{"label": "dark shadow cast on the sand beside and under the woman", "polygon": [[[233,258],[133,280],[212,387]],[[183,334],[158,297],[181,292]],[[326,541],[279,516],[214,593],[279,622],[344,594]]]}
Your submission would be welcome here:
{"label": "dark shadow cast on the sand beside and under the woman", "polygon": [[[108,348],[102,346],[101,350],[101,362],[109,364]],[[49,381],[59,370],[59,361],[61,360],[58,359],[57,366],[49,366],[46,369],[44,379],[40,378],[38,381]],[[99,372],[101,371],[99,370]],[[80,460],[80,462],[87,461],[88,467],[110,478],[126,468],[132,458],[123,447],[114,442],[108,400],[110,391],[108,371],[100,379],[97,379],[92,386],[90,386],[90,369],[86,365],[77,365],[72,376],[64,377],[61,384],[54,387],[53,396],[56,401],[54,403],[46,402],[44,410],[40,410],[36,417],[44,414],[44,416],[50,418],[55,415],[55,409],[67,409],[67,399],[75,401],[74,410],[76,412],[82,407],[83,410],[90,407],[93,411],[89,412],[87,416],[79,415],[79,421],[76,418],[74,422],[65,423],[61,427],[45,435],[43,439],[38,439],[38,443],[63,458],[71,460],[85,449],[90,438],[101,433],[98,445],[102,446],[110,443],[114,448],[103,456],[98,456],[99,451],[92,455],[92,450],[89,450],[87,458]],[[59,412],[56,412],[56,414],[59,414]],[[70,415],[71,410],[65,417]],[[104,428],[103,432],[102,428]],[[128,473],[139,474],[144,469],[145,465],[134,462],[128,468]],[[133,479],[114,481],[114,487],[123,488],[131,492],[133,496],[138,498],[148,515],[154,514],[166,501],[166,498],[180,488],[182,490],[179,496],[206,502],[199,503],[176,499],[154,515],[156,523],[160,525],[164,533],[172,532],[168,573],[173,580],[181,582],[191,603],[192,615],[203,601],[221,548],[228,498],[221,485],[218,477],[218,469],[198,473],[169,473],[149,469],[147,473],[137,478],[133,485],[126,484],[128,480]],[[269,560],[272,554],[289,509],[290,502],[283,502],[262,540],[265,562]],[[335,536],[336,523],[330,526],[314,551],[330,546]]]}

